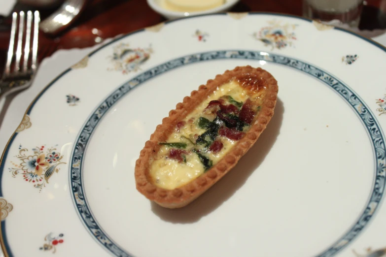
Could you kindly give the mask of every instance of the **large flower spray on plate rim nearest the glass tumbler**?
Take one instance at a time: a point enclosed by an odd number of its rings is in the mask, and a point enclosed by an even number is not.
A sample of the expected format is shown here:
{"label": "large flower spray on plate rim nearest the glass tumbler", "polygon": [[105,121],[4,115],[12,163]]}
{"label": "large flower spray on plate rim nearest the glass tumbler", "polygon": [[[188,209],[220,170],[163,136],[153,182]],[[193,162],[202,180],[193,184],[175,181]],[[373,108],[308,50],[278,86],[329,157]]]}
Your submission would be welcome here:
{"label": "large flower spray on plate rim nearest the glass tumbler", "polygon": [[295,24],[281,25],[279,21],[269,21],[270,26],[261,28],[259,32],[254,32],[253,37],[264,43],[265,46],[271,46],[274,48],[282,49],[287,46],[292,46],[292,42],[296,40]]}

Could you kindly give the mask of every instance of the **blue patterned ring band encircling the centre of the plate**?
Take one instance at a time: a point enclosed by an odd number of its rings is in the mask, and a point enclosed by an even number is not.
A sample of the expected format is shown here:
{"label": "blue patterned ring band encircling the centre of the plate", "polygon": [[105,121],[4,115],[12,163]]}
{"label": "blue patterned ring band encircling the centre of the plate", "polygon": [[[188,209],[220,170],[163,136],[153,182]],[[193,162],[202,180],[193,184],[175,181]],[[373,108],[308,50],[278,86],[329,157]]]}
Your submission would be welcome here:
{"label": "blue patterned ring band encircling the centre of the plate", "polygon": [[[279,33],[279,32],[275,32]],[[93,217],[87,201],[84,197],[83,183],[81,180],[81,167],[79,163],[82,162],[85,154],[85,149],[94,129],[98,126],[99,121],[105,115],[106,111],[114,105],[122,96],[127,94],[131,89],[140,85],[148,79],[153,78],[163,72],[170,71],[179,66],[186,64],[193,64],[200,61],[210,61],[219,59],[250,59],[250,60],[263,60],[276,64],[282,64],[300,71],[303,71],[328,87],[335,90],[337,94],[352,107],[366,129],[369,132],[370,140],[375,152],[375,181],[371,192],[371,197],[364,208],[364,212],[360,215],[358,220],[351,226],[351,228],[344,234],[338,241],[333,243],[328,249],[320,253],[317,257],[332,257],[340,250],[346,247],[354,238],[356,238],[363,228],[369,223],[373,217],[375,211],[379,207],[385,190],[385,177],[386,177],[386,148],[384,136],[381,132],[381,128],[378,125],[377,120],[373,117],[373,114],[369,111],[366,104],[357,96],[348,86],[339,81],[334,76],[327,72],[311,65],[292,58],[283,57],[280,55],[256,52],[256,51],[241,51],[241,50],[229,50],[229,51],[211,51],[199,54],[188,55],[185,57],[177,58],[164,64],[160,64],[153,67],[138,76],[134,77],[118,89],[116,89],[105,101],[97,107],[95,113],[93,113],[84,127],[81,130],[79,137],[75,141],[73,154],[71,157],[71,189],[75,202],[75,207],[81,216],[86,227],[90,230],[90,233],[94,235],[95,239],[99,241],[111,254],[121,257],[131,257],[129,253],[115,244],[104,230],[98,225],[97,221]],[[98,118],[96,118],[98,117]]]}

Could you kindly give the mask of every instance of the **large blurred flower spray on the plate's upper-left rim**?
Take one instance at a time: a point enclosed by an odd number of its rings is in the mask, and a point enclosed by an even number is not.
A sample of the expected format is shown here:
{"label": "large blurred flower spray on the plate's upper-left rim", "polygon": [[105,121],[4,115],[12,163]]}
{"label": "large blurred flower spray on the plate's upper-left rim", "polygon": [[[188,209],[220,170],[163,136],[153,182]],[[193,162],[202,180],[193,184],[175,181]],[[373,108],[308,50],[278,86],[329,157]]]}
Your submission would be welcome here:
{"label": "large blurred flower spray on the plate's upper-left rim", "polygon": [[131,48],[127,43],[120,43],[113,47],[113,55],[110,56],[112,68],[108,70],[121,71],[127,74],[140,70],[140,65],[145,63],[153,53],[151,46],[148,48]]}

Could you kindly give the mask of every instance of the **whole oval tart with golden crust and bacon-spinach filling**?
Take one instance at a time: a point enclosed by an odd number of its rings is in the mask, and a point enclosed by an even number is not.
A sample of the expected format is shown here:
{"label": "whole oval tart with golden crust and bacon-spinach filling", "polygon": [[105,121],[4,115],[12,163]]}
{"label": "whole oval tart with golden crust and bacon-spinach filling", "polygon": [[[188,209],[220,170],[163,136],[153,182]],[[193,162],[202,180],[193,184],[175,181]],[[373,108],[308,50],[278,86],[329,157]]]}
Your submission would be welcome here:
{"label": "whole oval tart with golden crust and bacon-spinach filling", "polygon": [[236,67],[208,80],[162,120],[136,162],[137,190],[183,207],[229,172],[274,114],[278,83],[266,70]]}

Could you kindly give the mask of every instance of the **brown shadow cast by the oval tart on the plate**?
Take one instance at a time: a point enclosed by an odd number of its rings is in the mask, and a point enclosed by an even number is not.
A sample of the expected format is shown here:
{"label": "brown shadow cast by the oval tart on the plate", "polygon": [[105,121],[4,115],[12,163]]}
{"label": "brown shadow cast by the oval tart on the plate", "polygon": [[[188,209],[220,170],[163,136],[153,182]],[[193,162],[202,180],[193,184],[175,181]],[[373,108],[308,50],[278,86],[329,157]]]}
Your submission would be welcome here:
{"label": "brown shadow cast by the oval tart on the plate", "polygon": [[253,171],[258,172],[256,169],[264,161],[280,134],[283,114],[284,105],[278,98],[275,115],[254,146],[228,174],[217,181],[206,193],[180,209],[168,209],[151,202],[152,212],[163,221],[185,224],[195,223],[217,209],[246,183]]}

